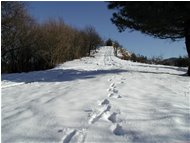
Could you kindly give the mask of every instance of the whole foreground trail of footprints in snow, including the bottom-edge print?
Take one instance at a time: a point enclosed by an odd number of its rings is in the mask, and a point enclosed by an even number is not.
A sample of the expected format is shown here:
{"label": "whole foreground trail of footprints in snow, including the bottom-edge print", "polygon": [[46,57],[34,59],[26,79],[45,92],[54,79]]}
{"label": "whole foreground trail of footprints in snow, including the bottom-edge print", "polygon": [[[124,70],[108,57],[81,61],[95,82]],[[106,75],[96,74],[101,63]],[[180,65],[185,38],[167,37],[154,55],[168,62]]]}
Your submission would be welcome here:
{"label": "whole foreground trail of footprints in snow, including the bottom-edge print", "polygon": [[[112,79],[108,79],[109,82],[112,82]],[[119,82],[120,84],[124,83],[121,79]],[[122,98],[122,96],[119,94],[119,91],[117,89],[116,83],[112,82],[110,84],[110,87],[107,89],[108,97],[105,98],[103,101],[98,103],[98,108],[92,111],[92,114],[90,115],[90,119],[88,120],[88,124],[94,124],[99,119],[103,118],[111,123],[111,131],[113,134],[117,136],[125,135],[125,131],[122,128],[122,120],[118,119],[119,112],[111,112],[111,103],[109,101],[109,98],[119,99]],[[86,137],[86,129],[64,129],[64,130],[58,130],[59,133],[64,133],[61,143],[83,143],[85,141]]]}

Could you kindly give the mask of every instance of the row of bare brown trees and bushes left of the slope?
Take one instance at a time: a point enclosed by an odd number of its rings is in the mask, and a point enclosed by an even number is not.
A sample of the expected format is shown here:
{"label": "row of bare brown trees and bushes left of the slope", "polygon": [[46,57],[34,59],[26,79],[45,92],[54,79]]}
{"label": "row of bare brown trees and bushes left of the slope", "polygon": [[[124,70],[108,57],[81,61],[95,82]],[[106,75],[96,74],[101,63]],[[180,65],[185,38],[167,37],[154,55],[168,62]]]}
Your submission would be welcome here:
{"label": "row of bare brown trees and bushes left of the slope", "polygon": [[37,23],[24,2],[1,2],[1,72],[53,68],[68,60],[90,56],[103,44],[92,26],[73,28],[62,19]]}

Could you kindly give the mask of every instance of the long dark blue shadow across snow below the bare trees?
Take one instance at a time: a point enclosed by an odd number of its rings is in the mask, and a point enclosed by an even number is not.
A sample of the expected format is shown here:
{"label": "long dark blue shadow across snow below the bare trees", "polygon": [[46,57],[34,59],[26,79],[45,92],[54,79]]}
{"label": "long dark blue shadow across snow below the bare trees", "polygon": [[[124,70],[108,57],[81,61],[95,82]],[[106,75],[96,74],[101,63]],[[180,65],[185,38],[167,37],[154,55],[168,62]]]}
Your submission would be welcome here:
{"label": "long dark blue shadow across snow below the bare trees", "polygon": [[95,78],[98,75],[104,74],[117,74],[127,72],[127,70],[111,69],[111,70],[93,70],[93,71],[80,71],[73,69],[52,69],[47,71],[37,71],[30,73],[16,73],[5,74],[1,76],[3,81],[12,82],[65,82],[78,79]]}

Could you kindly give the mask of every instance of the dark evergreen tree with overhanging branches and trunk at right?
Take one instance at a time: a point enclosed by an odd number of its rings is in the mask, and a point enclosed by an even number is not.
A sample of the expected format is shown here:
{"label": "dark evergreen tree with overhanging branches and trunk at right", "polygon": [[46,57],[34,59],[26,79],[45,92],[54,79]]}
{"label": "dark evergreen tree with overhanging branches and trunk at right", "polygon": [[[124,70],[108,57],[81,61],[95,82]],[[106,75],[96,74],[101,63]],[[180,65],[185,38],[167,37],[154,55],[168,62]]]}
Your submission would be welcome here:
{"label": "dark evergreen tree with overhanging branches and trunk at right", "polygon": [[[161,39],[185,38],[190,58],[190,2],[109,2],[112,22],[122,32],[126,28]],[[190,65],[188,66],[190,76]]]}

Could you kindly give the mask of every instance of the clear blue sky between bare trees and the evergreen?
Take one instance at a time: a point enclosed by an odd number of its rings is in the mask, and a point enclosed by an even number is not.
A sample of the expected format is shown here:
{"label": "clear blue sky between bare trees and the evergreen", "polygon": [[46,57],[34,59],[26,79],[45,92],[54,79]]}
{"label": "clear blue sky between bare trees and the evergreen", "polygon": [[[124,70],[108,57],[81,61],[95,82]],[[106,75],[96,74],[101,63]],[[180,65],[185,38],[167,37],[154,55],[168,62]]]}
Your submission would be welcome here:
{"label": "clear blue sky between bare trees and the evergreen", "polygon": [[117,27],[110,20],[113,11],[108,10],[107,3],[103,1],[33,1],[28,3],[29,13],[40,23],[49,18],[61,17],[66,24],[76,28],[84,28],[88,25],[94,26],[104,39],[117,40],[130,52],[136,54],[148,57],[163,56],[164,58],[187,55],[184,39],[172,42],[155,39],[137,31],[119,33]]}

